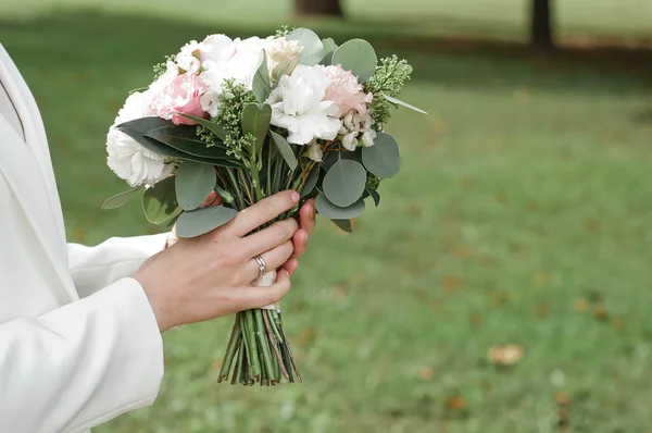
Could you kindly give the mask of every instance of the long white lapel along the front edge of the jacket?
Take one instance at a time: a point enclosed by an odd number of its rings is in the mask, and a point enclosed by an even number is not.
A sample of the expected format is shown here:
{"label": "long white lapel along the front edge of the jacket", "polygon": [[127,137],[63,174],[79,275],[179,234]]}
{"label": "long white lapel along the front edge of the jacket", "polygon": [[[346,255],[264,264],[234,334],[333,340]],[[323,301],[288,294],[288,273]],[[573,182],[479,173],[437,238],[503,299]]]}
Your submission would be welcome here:
{"label": "long white lapel along the front edge of the jacket", "polygon": [[0,170],[25,210],[66,292],[78,295],[67,269],[67,246],[61,203],[45,128],[32,92],[0,45],[0,81],[14,103],[25,141],[0,117]]}

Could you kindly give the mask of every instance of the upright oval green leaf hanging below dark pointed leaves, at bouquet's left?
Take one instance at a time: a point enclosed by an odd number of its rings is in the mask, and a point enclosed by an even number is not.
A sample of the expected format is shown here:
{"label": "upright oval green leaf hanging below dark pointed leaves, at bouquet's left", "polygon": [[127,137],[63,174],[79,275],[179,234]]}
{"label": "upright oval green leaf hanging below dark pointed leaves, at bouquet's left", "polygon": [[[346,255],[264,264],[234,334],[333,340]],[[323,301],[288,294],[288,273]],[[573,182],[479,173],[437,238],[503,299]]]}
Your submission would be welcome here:
{"label": "upright oval green leaf hanging below dark pointed leaves, at bouquet's left", "polygon": [[213,191],[217,176],[212,165],[186,161],[176,174],[177,202],[184,210],[192,210]]}

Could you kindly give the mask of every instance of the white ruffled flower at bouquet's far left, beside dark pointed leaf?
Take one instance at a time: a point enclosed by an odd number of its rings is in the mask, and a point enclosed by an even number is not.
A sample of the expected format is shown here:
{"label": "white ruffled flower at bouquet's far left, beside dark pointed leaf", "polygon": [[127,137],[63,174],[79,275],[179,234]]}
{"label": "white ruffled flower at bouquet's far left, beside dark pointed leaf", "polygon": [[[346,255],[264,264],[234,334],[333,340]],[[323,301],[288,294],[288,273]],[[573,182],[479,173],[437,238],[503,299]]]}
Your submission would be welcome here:
{"label": "white ruffled flower at bouquet's far left, beside dark pointed leaf", "polygon": [[121,123],[151,116],[149,106],[152,97],[151,90],[131,94],[118,111],[106,135],[109,168],[134,187],[142,184],[153,185],[167,177],[173,170],[173,164],[164,163],[165,157],[147,150],[135,139],[115,128]]}

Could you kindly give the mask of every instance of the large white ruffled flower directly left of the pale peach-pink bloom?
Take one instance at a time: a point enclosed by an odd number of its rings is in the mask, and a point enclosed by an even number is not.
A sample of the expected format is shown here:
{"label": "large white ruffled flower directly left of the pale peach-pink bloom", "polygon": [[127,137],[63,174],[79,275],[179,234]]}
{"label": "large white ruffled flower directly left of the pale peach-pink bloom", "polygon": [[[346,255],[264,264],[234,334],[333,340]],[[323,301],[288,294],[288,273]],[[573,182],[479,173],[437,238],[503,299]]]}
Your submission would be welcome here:
{"label": "large white ruffled flower directly left of the pale peach-pink bloom", "polygon": [[341,121],[334,117],[337,106],[325,101],[329,79],[324,66],[298,65],[292,75],[284,75],[272,91],[272,124],[288,129],[288,141],[305,145],[313,138],[334,139]]}

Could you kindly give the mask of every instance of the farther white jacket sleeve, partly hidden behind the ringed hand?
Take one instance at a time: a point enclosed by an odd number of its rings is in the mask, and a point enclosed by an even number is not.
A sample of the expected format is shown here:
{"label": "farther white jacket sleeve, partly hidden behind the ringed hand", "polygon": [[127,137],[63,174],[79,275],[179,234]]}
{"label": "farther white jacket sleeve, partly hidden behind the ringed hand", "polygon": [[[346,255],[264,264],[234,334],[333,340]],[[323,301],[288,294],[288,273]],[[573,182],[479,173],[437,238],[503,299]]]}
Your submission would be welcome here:
{"label": "farther white jacket sleeve, partly hidden behind the ringed hand", "polygon": [[79,297],[134,275],[143,261],[165,248],[167,236],[112,237],[96,247],[68,244],[68,267]]}

